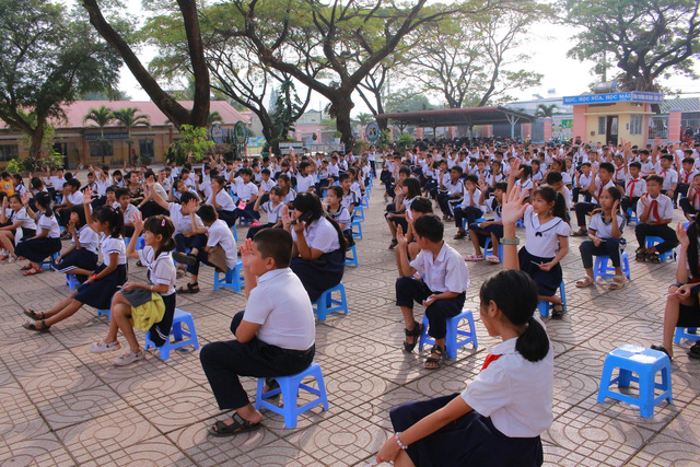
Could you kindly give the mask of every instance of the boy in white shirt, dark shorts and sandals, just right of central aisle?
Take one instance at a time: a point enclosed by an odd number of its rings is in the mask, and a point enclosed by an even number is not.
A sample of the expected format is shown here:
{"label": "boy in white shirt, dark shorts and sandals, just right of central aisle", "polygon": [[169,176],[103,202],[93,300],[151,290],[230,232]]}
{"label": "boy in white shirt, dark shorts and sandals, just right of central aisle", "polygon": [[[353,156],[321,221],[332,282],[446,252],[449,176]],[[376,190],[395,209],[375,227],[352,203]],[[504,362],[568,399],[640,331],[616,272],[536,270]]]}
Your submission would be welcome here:
{"label": "boy in white shirt, dark shorts and sandals, just right of central aisle", "polygon": [[413,232],[420,253],[410,262],[408,241],[400,226],[396,235],[401,273],[396,280],[396,305],[400,306],[406,324],[404,350],[411,352],[423,331],[423,326],[413,319],[413,302],[418,302],[425,306],[428,334],[435,340],[425,360],[425,367],[430,370],[440,369],[447,357],[447,318],[462,312],[469,287],[467,265],[462,255],[444,242],[444,229],[434,214],[418,218],[413,222]]}

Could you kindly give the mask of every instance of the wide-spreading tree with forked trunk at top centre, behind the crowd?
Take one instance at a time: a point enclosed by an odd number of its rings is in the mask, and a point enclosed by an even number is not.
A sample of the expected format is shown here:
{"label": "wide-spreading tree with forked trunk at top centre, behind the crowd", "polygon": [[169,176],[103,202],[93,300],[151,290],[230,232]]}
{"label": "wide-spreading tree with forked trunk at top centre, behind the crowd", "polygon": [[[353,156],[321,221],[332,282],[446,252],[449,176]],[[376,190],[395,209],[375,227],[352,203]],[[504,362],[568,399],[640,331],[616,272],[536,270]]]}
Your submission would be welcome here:
{"label": "wide-spreading tree with forked trunk at top centre, behind the crowd", "polygon": [[360,82],[417,28],[450,15],[502,7],[509,0],[468,0],[399,7],[381,0],[233,0],[242,21],[220,33],[245,39],[261,63],[287,73],[330,102],[346,148],[353,147],[350,112]]}

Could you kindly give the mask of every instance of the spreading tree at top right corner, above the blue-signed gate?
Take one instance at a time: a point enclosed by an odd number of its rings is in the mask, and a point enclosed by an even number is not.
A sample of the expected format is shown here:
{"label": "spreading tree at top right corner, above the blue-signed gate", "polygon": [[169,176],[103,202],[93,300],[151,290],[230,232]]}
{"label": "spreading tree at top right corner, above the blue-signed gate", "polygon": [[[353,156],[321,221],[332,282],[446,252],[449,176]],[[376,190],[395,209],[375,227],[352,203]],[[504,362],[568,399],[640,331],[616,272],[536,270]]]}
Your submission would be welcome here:
{"label": "spreading tree at top right corner, above the blue-signed gate", "polygon": [[670,74],[698,78],[700,55],[698,0],[562,0],[565,24],[584,28],[569,56],[611,60],[627,91],[661,91]]}

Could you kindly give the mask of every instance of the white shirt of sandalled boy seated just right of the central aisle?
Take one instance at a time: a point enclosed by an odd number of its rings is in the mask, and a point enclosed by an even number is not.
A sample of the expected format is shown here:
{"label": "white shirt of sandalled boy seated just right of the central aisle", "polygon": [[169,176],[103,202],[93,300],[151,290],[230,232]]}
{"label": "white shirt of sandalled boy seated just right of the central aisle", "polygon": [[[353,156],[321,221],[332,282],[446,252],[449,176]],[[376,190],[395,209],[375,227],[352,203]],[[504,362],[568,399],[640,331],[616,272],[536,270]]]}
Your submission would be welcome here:
{"label": "white shirt of sandalled boy seated just right of the central aisle", "polygon": [[463,293],[469,287],[469,270],[462,255],[443,242],[440,253],[433,259],[430,250],[421,249],[411,268],[417,276],[424,276],[425,285],[434,293]]}

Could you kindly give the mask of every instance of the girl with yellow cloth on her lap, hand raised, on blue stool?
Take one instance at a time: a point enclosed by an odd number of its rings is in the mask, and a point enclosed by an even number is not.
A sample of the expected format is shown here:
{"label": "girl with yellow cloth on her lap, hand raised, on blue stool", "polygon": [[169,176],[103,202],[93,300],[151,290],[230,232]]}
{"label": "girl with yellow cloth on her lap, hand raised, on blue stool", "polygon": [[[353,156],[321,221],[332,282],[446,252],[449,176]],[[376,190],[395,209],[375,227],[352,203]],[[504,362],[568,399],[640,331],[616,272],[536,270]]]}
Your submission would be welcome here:
{"label": "girl with yellow cloth on her lap, hand raised, on blue stool", "polygon": [[[121,345],[117,340],[117,334],[121,330],[129,342],[129,351],[115,359],[114,363],[118,366],[145,358],[145,351],[133,334],[135,326],[149,331],[149,339],[161,347],[168,338],[175,314],[177,269],[171,254],[175,249],[175,225],[165,215],[151,215],[144,223],[138,211],[133,213],[131,221],[133,236],[127,247],[127,256],[139,258],[148,268],[149,283],[127,282],[120,292],[115,293],[107,337],[90,346],[90,351],[94,353],[118,350]],[[141,232],[145,246],[136,252]]]}

